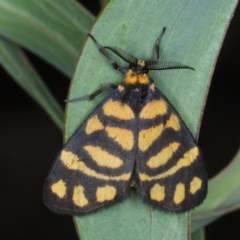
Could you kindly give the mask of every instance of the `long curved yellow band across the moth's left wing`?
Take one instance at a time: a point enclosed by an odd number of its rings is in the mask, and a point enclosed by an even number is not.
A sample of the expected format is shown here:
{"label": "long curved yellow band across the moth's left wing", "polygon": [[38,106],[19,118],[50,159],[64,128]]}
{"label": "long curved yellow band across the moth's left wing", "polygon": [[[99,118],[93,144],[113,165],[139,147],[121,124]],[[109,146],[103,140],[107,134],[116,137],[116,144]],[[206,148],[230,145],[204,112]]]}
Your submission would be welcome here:
{"label": "long curved yellow band across the moth's left wing", "polygon": [[131,172],[124,173],[118,176],[108,176],[96,172],[94,169],[89,168],[83,161],[81,161],[76,154],[73,154],[70,151],[63,150],[61,152],[60,159],[62,163],[70,170],[77,170],[82,172],[85,175],[103,179],[103,180],[114,180],[114,181],[128,181],[131,177]]}

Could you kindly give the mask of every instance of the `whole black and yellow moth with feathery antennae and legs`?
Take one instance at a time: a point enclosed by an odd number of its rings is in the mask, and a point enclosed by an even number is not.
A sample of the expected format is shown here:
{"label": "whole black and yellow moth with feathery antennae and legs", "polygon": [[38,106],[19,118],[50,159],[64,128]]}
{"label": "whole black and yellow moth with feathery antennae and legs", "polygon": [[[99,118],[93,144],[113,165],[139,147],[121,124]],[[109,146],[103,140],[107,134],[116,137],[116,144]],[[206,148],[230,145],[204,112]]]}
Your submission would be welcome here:
{"label": "whole black and yellow moth with feathery antennae and legs", "polygon": [[[104,47],[89,34],[124,80],[69,100],[91,100],[113,89],[58,155],[44,186],[44,202],[51,210],[89,213],[122,201],[133,185],[144,202],[170,212],[189,211],[206,197],[207,174],[199,148],[148,76],[151,70],[193,69],[159,60],[165,29],[155,43],[153,59],[145,61],[122,49]],[[111,54],[129,65],[120,66]]]}

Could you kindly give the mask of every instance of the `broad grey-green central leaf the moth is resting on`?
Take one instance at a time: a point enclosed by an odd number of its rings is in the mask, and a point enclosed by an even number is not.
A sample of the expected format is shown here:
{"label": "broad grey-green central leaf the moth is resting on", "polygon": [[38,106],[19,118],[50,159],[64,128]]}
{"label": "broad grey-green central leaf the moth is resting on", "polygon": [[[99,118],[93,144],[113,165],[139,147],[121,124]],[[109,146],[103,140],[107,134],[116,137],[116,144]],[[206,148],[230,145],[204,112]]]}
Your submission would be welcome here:
{"label": "broad grey-green central leaf the moth is resting on", "polygon": [[[93,35],[103,45],[117,46],[139,58],[151,56],[163,26],[164,53],[193,66],[196,71],[175,70],[154,75],[156,85],[176,107],[193,134],[206,101],[210,78],[236,0],[168,1],[112,0],[96,22]],[[86,95],[100,85],[121,81],[106,59],[88,41],[78,62],[70,98]],[[106,96],[106,95],[105,95]],[[69,104],[65,137],[68,139],[103,99]],[[80,110],[81,109],[81,110]],[[188,214],[161,212],[143,204],[132,191],[121,204],[75,218],[81,240],[188,239]]]}

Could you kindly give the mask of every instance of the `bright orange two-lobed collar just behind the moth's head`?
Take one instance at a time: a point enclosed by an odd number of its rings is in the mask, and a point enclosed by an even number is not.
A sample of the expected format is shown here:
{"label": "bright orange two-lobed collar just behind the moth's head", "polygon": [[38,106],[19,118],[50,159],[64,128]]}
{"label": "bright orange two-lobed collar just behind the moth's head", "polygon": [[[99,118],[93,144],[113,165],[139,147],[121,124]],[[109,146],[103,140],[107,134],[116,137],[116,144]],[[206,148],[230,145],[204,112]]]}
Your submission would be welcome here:
{"label": "bright orange two-lobed collar just behind the moth's head", "polygon": [[150,80],[146,73],[136,73],[132,69],[129,69],[127,71],[127,74],[124,78],[124,82],[127,85],[136,85],[136,84],[149,85],[150,84]]}

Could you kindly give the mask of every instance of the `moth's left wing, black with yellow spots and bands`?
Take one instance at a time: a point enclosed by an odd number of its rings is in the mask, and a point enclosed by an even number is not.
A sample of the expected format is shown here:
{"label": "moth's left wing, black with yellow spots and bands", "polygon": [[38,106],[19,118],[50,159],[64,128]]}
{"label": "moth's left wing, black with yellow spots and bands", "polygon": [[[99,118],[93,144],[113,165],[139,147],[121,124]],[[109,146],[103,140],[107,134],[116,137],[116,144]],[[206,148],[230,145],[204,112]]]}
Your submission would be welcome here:
{"label": "moth's left wing, black with yellow spots and bands", "polygon": [[117,90],[90,114],[46,179],[51,210],[84,214],[127,197],[135,159],[135,115]]}

